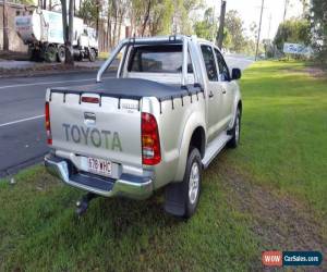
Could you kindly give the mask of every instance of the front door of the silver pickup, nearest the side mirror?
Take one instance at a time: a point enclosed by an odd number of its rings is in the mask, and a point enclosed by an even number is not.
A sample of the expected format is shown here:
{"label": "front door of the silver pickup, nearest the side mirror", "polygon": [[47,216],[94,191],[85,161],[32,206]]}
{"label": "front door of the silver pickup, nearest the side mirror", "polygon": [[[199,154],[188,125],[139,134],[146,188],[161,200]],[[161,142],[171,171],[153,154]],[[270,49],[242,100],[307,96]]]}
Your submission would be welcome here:
{"label": "front door of the silver pickup, nearest the side mirror", "polygon": [[233,118],[233,98],[234,98],[234,86],[231,82],[229,69],[220,51],[215,48],[216,60],[218,64],[218,81],[221,87],[221,119],[223,129],[227,128],[230,121]]}

